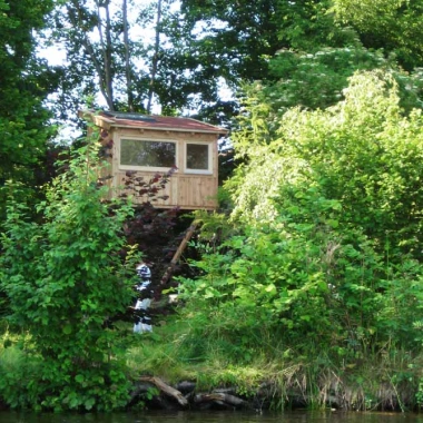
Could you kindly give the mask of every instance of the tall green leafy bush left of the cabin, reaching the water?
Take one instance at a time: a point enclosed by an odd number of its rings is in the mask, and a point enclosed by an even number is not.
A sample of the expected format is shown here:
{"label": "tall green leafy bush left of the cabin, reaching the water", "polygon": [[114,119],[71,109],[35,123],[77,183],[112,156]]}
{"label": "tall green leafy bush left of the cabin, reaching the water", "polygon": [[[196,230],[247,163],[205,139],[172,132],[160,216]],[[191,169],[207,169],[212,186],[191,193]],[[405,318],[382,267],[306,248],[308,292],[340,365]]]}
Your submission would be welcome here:
{"label": "tall green leafy bush left of the cabin, reaching the water", "polygon": [[128,200],[104,200],[98,176],[106,164],[97,139],[94,132],[73,151],[47,188],[41,223],[27,218],[24,205],[8,201],[1,288],[10,323],[31,336],[27,353],[42,357],[32,403],[20,406],[111,410],[128,397],[116,333],[105,322],[131,303],[139,257],[122,227],[134,209]]}

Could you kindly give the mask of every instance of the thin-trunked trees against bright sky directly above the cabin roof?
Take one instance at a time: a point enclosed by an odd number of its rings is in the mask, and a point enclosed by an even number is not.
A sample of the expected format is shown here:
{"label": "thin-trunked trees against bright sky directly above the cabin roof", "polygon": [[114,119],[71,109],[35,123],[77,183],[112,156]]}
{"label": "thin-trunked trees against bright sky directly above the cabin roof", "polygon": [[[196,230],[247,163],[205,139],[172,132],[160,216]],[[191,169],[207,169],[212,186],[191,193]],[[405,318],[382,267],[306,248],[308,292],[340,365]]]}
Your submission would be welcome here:
{"label": "thin-trunked trees against bright sky directly above the cabin roof", "polygon": [[76,110],[87,97],[97,104],[101,96],[110,110],[150,112],[156,102],[173,115],[195,107],[197,96],[207,101],[215,95],[217,80],[210,86],[199,61],[191,66],[189,35],[174,9],[170,0],[142,7],[72,0],[58,8],[51,39],[66,43],[68,57],[59,94],[62,116],[69,104]]}

